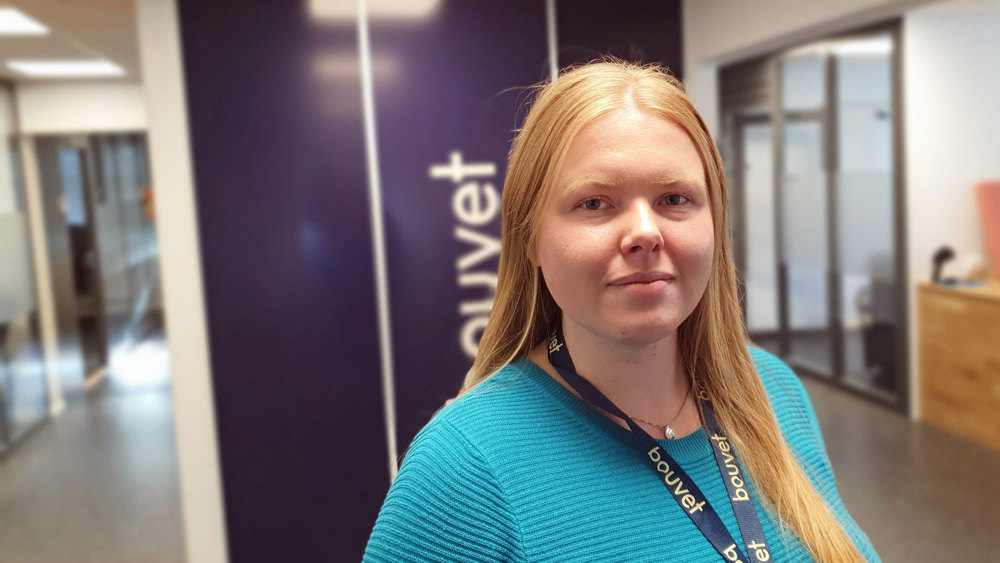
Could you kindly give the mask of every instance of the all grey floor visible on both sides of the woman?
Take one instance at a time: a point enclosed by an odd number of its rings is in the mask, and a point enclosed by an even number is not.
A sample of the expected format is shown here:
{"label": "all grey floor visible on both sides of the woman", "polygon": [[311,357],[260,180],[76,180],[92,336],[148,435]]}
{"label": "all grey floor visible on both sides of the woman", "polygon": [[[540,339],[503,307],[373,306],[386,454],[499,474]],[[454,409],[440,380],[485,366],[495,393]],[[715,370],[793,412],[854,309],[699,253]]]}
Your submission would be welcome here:
{"label": "all grey floor visible on both sides of the woman", "polygon": [[[0,465],[0,561],[182,562],[161,340]],[[1000,561],[1000,453],[806,379],[848,510],[883,561]]]}

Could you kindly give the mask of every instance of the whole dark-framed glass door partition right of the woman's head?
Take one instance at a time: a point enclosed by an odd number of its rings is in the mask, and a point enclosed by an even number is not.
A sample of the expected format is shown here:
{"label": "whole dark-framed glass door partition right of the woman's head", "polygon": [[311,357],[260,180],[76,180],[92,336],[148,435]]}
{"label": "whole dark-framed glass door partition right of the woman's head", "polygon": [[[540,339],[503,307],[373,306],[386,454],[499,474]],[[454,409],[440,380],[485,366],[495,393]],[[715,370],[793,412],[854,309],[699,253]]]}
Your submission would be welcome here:
{"label": "whole dark-framed glass door partition right of the woman's head", "polygon": [[907,408],[898,26],[723,69],[733,246],[755,345]]}

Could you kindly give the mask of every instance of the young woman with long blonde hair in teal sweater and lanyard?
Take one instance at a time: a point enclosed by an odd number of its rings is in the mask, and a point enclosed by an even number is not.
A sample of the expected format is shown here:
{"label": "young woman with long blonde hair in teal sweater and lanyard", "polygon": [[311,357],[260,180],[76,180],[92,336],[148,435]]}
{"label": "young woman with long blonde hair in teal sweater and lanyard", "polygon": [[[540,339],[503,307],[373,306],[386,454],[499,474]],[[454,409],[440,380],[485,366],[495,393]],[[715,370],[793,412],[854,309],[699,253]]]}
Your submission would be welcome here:
{"label": "young woman with long blonde hair in teal sweater and lanyard", "polygon": [[878,560],[802,385],[748,347],[726,198],[662,69],[593,63],[540,90],[478,355],[365,560]]}

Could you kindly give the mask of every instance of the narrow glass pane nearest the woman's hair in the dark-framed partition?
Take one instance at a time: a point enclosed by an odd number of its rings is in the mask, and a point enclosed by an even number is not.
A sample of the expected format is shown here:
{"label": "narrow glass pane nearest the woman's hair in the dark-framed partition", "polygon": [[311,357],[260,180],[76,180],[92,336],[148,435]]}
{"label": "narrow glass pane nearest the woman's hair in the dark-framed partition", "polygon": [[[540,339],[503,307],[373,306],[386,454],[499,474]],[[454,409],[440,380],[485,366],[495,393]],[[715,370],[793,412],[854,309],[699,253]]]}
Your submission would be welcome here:
{"label": "narrow glass pane nearest the woman's hair in the dark-framed partition", "polygon": [[742,131],[746,218],[747,331],[754,343],[778,351],[777,255],[774,240],[774,174],[770,123],[747,123]]}

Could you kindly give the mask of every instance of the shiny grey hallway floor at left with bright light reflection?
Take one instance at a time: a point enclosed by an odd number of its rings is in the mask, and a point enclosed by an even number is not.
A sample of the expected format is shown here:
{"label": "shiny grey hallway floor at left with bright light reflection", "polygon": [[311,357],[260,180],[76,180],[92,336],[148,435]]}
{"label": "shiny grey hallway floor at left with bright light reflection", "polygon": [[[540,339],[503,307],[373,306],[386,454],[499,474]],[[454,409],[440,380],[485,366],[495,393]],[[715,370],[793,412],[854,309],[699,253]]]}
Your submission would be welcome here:
{"label": "shiny grey hallway floor at left with bright light reflection", "polygon": [[179,499],[166,344],[153,336],[0,464],[0,561],[183,561]]}

